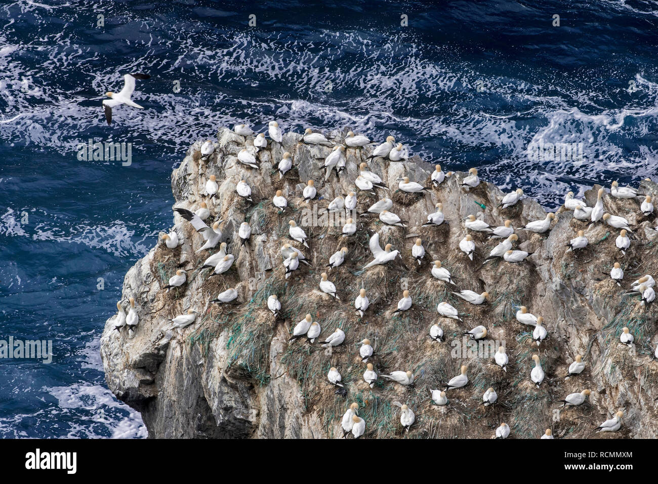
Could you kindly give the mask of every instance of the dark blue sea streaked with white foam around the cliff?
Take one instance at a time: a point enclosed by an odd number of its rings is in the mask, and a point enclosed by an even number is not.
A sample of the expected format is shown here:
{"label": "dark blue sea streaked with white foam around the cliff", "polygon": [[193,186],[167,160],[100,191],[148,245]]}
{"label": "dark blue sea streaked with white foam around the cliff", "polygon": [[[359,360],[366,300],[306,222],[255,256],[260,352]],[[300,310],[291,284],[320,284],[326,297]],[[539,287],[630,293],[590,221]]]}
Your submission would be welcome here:
{"label": "dark blue sea streaked with white foam around the cliff", "polygon": [[[0,359],[0,437],[146,437],[99,338],[172,223],[172,168],[218,126],[393,134],[547,209],[657,176],[655,0],[18,0],[0,25],[0,340],[53,343],[51,363]],[[131,72],[145,109],[107,126]],[[78,159],[89,139],[132,163]],[[528,155],[544,144],[582,157]]]}

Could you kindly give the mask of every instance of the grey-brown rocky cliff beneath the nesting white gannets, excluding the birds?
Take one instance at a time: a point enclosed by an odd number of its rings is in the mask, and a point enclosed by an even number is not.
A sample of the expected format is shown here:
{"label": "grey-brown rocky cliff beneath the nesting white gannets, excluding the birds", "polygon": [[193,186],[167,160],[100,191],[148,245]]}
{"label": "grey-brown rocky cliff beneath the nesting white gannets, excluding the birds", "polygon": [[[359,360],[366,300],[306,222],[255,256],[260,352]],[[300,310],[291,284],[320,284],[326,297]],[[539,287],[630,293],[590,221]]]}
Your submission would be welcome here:
{"label": "grey-brown rocky cliff beneath the nesting white gannets, excluding the birds", "polygon": [[[273,144],[260,151],[256,170],[237,162],[245,140],[221,129],[209,159],[201,159],[197,142],[172,173],[175,206],[194,211],[200,202],[207,202],[208,221],[223,220],[220,227],[230,241],[228,252],[236,260],[223,275],[208,279],[210,271],[190,270],[186,284],[165,290],[180,263],[188,261],[188,268],[198,269],[217,250],[196,254],[201,236],[176,214],[174,227],[182,245],[170,250],[159,242],[126,274],[121,301],[126,307],[129,297],[136,299],[136,335],[129,338],[124,330],[114,331],[109,319],[101,356],[109,388],[141,412],[150,437],[342,437],[340,419],[351,402],[359,403],[366,438],[489,438],[502,421],[515,438],[538,438],[547,428],[556,437],[567,438],[657,437],[653,400],[658,398],[658,362],[651,356],[657,342],[657,311],[654,305],[640,306],[637,296],[623,295],[638,277],[658,276],[655,231],[648,229],[649,221],[636,201],[604,196],[607,211],[638,224],[637,238],[622,256],[615,248],[618,230],[602,224],[588,229],[564,207],[547,234],[518,230],[528,221],[544,218],[544,209],[531,198],[499,209],[501,191],[487,182],[470,190],[461,188],[464,173],[446,178],[429,194],[403,194],[396,191],[397,178],[409,176],[431,186],[433,167],[420,159],[378,158],[369,162],[370,169],[390,187],[390,192],[379,190],[378,195],[392,198],[392,211],[409,221],[409,227],[383,225],[376,216],[359,217],[357,233],[345,239],[344,219],[333,225],[323,222],[331,221],[322,214],[334,197],[355,190],[359,163],[371,149],[347,149],[347,166],[340,179],[332,173],[324,182],[322,159],[330,148],[307,146],[299,138],[288,133],[282,146]],[[251,138],[246,144],[252,146]],[[293,169],[280,180],[276,165],[284,151],[291,153]],[[205,194],[210,175],[220,183],[212,200]],[[236,194],[241,179],[252,187],[253,203]],[[318,200],[303,202],[301,190],[309,179],[316,181]],[[288,198],[285,213],[272,205],[276,190]],[[645,181],[640,191],[655,197],[658,186]],[[588,205],[594,204],[595,194],[595,190],[586,194]],[[359,213],[378,198],[358,192]],[[449,225],[420,227],[436,202],[443,203]],[[463,219],[469,214],[492,226],[510,219],[519,235],[517,248],[534,254],[523,263],[491,261],[480,269],[496,242],[473,234],[474,261],[459,251],[459,240],[466,233]],[[310,249],[290,240],[290,219],[307,232]],[[251,239],[241,246],[237,232],[243,221],[251,225]],[[588,247],[577,254],[567,252],[565,244],[579,229],[586,230]],[[409,269],[386,265],[363,271],[372,259],[368,230],[380,233],[382,246],[390,242],[400,250]],[[411,257],[417,237],[428,252],[420,266]],[[286,242],[303,250],[312,263],[311,267],[301,264],[287,280],[280,255]],[[349,251],[345,263],[329,274],[340,297],[334,300],[320,292],[318,281],[329,256],[342,246]],[[488,291],[488,304],[473,306],[451,294],[454,288],[430,274],[431,261],[436,259],[451,271],[459,289]],[[602,273],[609,273],[615,261],[625,272],[622,288]],[[362,287],[370,299],[363,319],[353,308]],[[238,290],[235,304],[210,302],[226,288]],[[413,307],[394,315],[405,288]],[[277,294],[282,304],[278,318],[266,308],[270,294]],[[442,301],[459,309],[464,321],[439,317],[436,305]],[[521,305],[544,316],[549,338],[539,348],[532,340],[532,327],[515,319]],[[172,317],[190,308],[199,312],[193,325],[180,332],[161,331]],[[320,323],[322,336],[342,328],[343,344],[326,350],[303,339],[289,343],[292,327],[306,313]],[[437,321],[445,331],[445,342],[433,342],[428,335]],[[489,340],[507,348],[507,372],[492,358],[470,355],[457,346],[464,342],[462,333],[480,324],[488,328]],[[634,346],[620,344],[624,326],[635,336]],[[380,378],[370,389],[363,381],[365,364],[359,357],[358,343],[363,338],[375,347],[371,362],[378,374],[411,370],[417,383],[401,387]],[[539,354],[546,372],[539,389],[530,381],[533,354]],[[583,356],[586,368],[581,375],[565,379],[576,354]],[[470,383],[449,390],[447,406],[436,406],[429,390],[443,388],[462,364],[468,366]],[[346,395],[336,392],[326,379],[332,366],[342,373]],[[489,387],[495,388],[499,401],[485,408],[482,394]],[[583,389],[592,391],[586,404],[559,410],[558,400]],[[393,402],[414,410],[417,421],[409,433],[401,429],[399,408]],[[624,412],[620,431],[595,435],[595,427],[617,410]]]}

